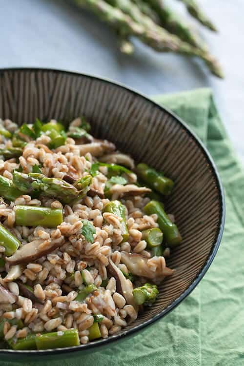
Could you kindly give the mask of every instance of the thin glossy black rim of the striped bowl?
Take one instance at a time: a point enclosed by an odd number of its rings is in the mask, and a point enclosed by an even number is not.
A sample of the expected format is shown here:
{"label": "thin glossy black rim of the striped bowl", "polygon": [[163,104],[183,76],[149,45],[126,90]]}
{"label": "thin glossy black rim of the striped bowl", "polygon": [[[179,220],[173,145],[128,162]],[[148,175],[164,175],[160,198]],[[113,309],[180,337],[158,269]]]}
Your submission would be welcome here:
{"label": "thin glossy black rim of the striped bowl", "polygon": [[178,306],[185,298],[186,296],[188,296],[193,290],[194,288],[199,284],[199,282],[202,280],[203,276],[205,275],[206,271],[208,270],[208,268],[210,267],[210,264],[213,262],[213,259],[219,249],[220,246],[220,242],[223,236],[223,231],[224,231],[224,222],[225,222],[225,200],[224,200],[224,188],[221,182],[221,178],[220,175],[218,173],[217,167],[210,155],[210,153],[208,152],[207,148],[203,145],[203,142],[199,139],[199,137],[195,134],[195,132],[192,131],[192,129],[190,127],[187,126],[187,124],[185,122],[183,122],[183,120],[178,117],[174,112],[172,112],[170,109],[168,109],[165,106],[162,106],[161,104],[154,102],[153,100],[151,100],[148,96],[146,96],[145,94],[127,87],[126,85],[117,82],[117,81],[112,81],[111,79],[108,78],[101,78],[99,76],[96,75],[92,75],[92,74],[84,74],[84,73],[80,73],[77,71],[69,71],[69,70],[60,70],[60,69],[52,69],[52,68],[43,68],[43,67],[6,67],[6,68],[0,68],[0,75],[4,72],[21,72],[21,71],[26,71],[26,72],[53,72],[53,73],[61,73],[61,74],[67,74],[70,76],[77,76],[77,77],[85,77],[85,78],[89,78],[89,79],[95,79],[97,81],[101,81],[101,82],[105,82],[107,84],[113,85],[113,86],[119,86],[120,88],[124,89],[127,92],[130,92],[134,95],[140,96],[143,100],[150,102],[152,105],[157,106],[158,108],[160,108],[162,111],[168,113],[171,117],[173,117],[177,123],[179,123],[182,128],[184,129],[184,131],[188,134],[189,137],[191,137],[196,144],[200,147],[200,149],[203,152],[203,155],[205,156],[208,164],[209,164],[209,168],[213,174],[213,177],[216,181],[216,185],[217,185],[217,189],[218,189],[218,194],[219,194],[219,201],[220,201],[220,210],[219,210],[219,217],[220,217],[220,223],[218,225],[218,233],[216,235],[216,238],[214,240],[214,243],[212,244],[212,249],[211,252],[209,254],[208,259],[206,260],[206,262],[203,264],[202,268],[200,269],[199,273],[197,274],[197,276],[195,277],[195,279],[191,282],[191,284],[184,290],[184,292],[177,298],[175,299],[171,304],[169,304],[166,308],[164,308],[159,314],[155,315],[153,318],[144,321],[142,324],[140,325],[136,325],[135,327],[129,329],[129,330],[124,330],[121,334],[119,335],[112,335],[109,338],[105,338],[105,339],[101,339],[98,341],[94,341],[91,343],[88,343],[86,345],[80,345],[80,346],[74,346],[74,347],[65,347],[65,348],[55,348],[55,349],[45,349],[45,350],[12,350],[12,349],[0,349],[0,355],[16,355],[16,356],[20,356],[23,355],[25,357],[33,357],[34,355],[38,355],[38,356],[53,356],[53,355],[60,355],[62,353],[72,353],[72,356],[75,356],[76,352],[81,352],[81,351],[85,351],[85,350],[90,350],[90,349],[94,349],[94,348],[99,348],[99,350],[102,349],[102,346],[106,346],[106,345],[111,345],[116,341],[119,341],[121,339],[125,339],[126,336],[129,335],[135,335],[136,333],[138,333],[140,330],[144,329],[145,327],[147,327],[148,325],[152,325],[154,324],[156,321],[162,319],[166,314],[168,314],[169,312],[171,312],[176,306]]}

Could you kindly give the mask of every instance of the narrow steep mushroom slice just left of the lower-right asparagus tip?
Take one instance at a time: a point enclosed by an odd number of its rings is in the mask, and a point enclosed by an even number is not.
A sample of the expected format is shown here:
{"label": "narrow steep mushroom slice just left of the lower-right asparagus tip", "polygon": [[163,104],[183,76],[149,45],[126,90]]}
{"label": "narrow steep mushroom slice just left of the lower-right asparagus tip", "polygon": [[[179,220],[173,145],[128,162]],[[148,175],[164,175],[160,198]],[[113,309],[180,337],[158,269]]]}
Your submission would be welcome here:
{"label": "narrow steep mushroom slice just left of the lower-right asparagus tip", "polygon": [[138,311],[138,306],[136,305],[134,297],[132,295],[133,285],[130,280],[127,280],[124,277],[120,268],[118,268],[117,265],[115,265],[113,261],[111,261],[111,259],[109,259],[107,269],[116,280],[117,291],[125,298],[128,305],[132,305],[135,310]]}

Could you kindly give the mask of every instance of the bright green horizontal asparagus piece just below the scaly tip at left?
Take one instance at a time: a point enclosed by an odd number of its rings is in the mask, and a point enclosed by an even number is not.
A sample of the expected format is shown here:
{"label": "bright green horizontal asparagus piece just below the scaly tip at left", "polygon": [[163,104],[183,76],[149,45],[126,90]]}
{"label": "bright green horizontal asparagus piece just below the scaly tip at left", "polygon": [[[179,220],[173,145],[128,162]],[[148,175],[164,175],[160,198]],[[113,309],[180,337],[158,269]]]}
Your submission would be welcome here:
{"label": "bright green horizontal asparagus piece just below the scaly tip at left", "polygon": [[47,208],[17,205],[16,225],[56,227],[62,223],[61,208]]}

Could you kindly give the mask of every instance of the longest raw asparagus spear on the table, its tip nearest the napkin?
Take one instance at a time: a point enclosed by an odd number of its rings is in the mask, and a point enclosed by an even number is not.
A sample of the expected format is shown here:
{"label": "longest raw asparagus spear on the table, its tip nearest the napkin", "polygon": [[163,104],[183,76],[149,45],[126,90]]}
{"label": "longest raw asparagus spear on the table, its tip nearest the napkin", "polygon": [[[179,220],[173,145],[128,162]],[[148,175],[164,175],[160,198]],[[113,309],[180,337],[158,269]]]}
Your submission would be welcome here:
{"label": "longest raw asparagus spear on the table, its tip nearest the napkin", "polygon": [[113,0],[114,6],[104,0],[75,0],[75,2],[83,8],[93,11],[101,20],[106,21],[115,29],[122,29],[124,33],[138,37],[158,52],[198,56],[206,63],[212,74],[223,78],[221,67],[213,56],[180,40],[155,24],[149,17],[142,14],[131,0]]}

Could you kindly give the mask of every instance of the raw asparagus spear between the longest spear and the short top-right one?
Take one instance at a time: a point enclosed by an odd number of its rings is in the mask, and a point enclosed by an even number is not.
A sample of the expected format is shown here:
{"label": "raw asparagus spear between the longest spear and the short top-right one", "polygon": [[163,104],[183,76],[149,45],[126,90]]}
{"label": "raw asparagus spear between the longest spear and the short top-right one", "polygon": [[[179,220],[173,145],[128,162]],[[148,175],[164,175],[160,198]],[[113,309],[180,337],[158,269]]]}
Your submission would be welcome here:
{"label": "raw asparagus spear between the longest spear and the short top-right one", "polygon": [[[137,1],[134,0],[136,3]],[[161,25],[168,32],[175,34],[181,40],[192,44],[195,47],[199,47],[206,50],[205,43],[201,38],[191,29],[190,25],[186,24],[180,16],[178,16],[174,11],[167,7],[163,1],[160,0],[147,0],[147,3],[155,11],[155,13],[160,18]],[[147,10],[140,7],[144,14],[148,14]],[[148,14],[150,16],[150,13]],[[150,17],[151,18],[151,17]]]}

